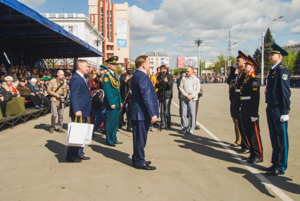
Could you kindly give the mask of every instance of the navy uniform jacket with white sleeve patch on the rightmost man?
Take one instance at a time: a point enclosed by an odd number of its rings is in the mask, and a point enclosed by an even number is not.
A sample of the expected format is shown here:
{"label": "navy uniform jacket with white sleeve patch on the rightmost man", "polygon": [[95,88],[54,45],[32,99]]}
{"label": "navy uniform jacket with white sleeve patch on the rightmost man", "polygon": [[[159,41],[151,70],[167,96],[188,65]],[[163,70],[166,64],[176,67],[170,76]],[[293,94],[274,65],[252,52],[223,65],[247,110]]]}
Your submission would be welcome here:
{"label": "navy uniform jacket with white sleeve patch on the rightmost man", "polygon": [[282,115],[290,110],[290,73],[280,62],[271,69],[267,76],[266,103],[271,106],[279,105]]}

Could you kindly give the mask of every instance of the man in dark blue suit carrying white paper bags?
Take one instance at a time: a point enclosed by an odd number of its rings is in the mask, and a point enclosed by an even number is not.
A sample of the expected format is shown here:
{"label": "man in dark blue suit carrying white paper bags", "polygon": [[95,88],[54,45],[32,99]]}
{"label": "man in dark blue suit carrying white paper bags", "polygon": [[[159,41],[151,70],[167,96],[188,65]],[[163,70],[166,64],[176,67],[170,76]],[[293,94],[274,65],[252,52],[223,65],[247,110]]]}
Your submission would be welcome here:
{"label": "man in dark blue suit carrying white paper bags", "polygon": [[[72,122],[75,122],[75,118],[77,118],[77,122],[80,122],[80,116],[82,116],[83,123],[87,123],[92,109],[90,91],[84,78],[84,74],[88,71],[87,61],[78,60],[76,68],[76,73],[69,83],[70,91],[72,91],[70,95],[70,117]],[[80,163],[82,160],[89,160],[90,158],[83,156],[83,147],[68,146],[66,159],[68,162]]]}

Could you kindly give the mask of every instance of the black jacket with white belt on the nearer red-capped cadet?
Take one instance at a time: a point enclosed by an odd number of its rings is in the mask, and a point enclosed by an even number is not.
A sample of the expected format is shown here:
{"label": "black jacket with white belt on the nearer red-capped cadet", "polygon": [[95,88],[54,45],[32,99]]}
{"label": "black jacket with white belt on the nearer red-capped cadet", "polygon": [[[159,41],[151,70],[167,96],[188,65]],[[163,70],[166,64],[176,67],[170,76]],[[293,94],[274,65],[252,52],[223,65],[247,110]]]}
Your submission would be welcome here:
{"label": "black jacket with white belt on the nearer red-capped cadet", "polygon": [[240,100],[241,114],[244,116],[258,117],[260,84],[259,79],[253,73],[246,75],[241,86],[240,99],[249,97],[247,100]]}

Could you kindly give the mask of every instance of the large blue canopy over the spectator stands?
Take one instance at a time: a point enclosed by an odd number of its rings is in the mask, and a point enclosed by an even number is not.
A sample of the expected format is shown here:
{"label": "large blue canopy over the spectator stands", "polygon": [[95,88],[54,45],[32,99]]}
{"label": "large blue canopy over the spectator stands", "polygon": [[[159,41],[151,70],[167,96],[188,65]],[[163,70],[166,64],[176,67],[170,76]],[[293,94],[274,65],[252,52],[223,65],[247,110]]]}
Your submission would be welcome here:
{"label": "large blue canopy over the spectator stands", "polygon": [[17,0],[0,0],[0,52],[4,51],[31,54],[39,59],[103,56]]}

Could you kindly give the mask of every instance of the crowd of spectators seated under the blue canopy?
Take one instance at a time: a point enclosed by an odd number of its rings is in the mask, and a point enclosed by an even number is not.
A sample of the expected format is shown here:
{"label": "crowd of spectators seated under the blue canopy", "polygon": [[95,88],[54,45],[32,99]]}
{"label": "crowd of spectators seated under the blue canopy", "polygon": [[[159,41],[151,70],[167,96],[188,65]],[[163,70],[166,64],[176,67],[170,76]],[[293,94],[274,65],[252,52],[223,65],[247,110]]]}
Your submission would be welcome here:
{"label": "crowd of spectators seated under the blue canopy", "polygon": [[[7,70],[8,69],[8,70]],[[47,87],[50,80],[57,76],[56,70],[9,64],[0,64],[0,119],[12,115],[24,115],[25,104],[35,109],[50,109],[50,96]],[[72,73],[65,72],[64,81],[68,82]]]}

